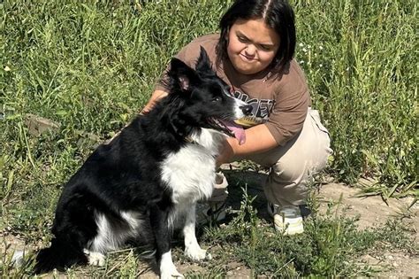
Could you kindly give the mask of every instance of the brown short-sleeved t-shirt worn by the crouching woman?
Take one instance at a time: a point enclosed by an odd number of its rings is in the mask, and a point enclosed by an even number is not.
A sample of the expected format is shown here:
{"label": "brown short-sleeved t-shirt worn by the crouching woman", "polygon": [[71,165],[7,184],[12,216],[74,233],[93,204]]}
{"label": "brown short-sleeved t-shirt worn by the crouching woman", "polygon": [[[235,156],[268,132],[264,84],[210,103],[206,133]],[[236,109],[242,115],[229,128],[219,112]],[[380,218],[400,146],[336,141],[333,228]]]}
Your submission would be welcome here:
{"label": "brown short-sleeved t-shirt worn by the crouching woman", "polygon": [[[219,35],[203,35],[188,43],[176,56],[194,67],[202,46],[208,53],[217,75],[232,87],[234,97],[253,106],[252,122],[264,123],[278,144],[283,145],[301,131],[311,104],[309,88],[301,67],[295,60],[280,73],[263,70],[257,74],[240,74],[230,61],[216,64]],[[156,89],[164,86],[165,73]]]}

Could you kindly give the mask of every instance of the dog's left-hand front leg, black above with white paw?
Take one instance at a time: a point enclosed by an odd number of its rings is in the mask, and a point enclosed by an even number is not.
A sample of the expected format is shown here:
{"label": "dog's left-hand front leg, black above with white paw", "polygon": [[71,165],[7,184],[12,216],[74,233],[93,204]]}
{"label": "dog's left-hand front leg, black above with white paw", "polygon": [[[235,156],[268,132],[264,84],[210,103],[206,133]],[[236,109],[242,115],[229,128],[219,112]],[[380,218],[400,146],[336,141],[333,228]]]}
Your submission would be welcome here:
{"label": "dog's left-hand front leg, black above with white paw", "polygon": [[176,269],[171,260],[171,226],[168,221],[169,209],[154,206],[150,211],[150,223],[156,242],[156,260],[160,268],[160,278],[168,279],[183,275]]}

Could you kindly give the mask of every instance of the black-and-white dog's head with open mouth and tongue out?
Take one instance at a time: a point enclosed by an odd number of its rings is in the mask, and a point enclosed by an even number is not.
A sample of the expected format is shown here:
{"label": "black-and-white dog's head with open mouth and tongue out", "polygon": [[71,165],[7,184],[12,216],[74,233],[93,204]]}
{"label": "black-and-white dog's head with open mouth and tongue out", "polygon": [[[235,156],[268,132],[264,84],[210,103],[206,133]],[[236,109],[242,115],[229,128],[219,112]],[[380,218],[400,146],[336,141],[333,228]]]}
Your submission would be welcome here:
{"label": "black-and-white dog's head with open mouth and tongue out", "polygon": [[211,68],[203,48],[195,69],[178,58],[172,58],[168,75],[171,105],[176,105],[178,110],[176,126],[212,128],[244,143],[244,131],[234,120],[250,114],[251,106],[232,97],[230,87]]}

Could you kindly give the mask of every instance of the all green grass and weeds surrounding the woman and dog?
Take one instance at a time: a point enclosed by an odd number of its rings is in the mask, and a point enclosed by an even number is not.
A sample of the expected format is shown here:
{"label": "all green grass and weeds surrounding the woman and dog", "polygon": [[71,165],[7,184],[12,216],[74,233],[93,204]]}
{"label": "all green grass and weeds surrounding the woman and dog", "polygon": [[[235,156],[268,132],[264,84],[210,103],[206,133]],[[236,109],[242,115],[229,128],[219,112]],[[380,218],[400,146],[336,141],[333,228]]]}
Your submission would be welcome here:
{"label": "all green grass and weeds surrounding the woman and dog", "polygon": [[[194,37],[217,31],[217,21],[231,3],[0,4],[2,234],[19,235],[30,244],[48,241],[44,236],[49,236],[60,185],[95,145],[141,109],[172,55]],[[335,153],[329,172],[340,182],[373,179],[366,192],[385,198],[419,197],[418,4],[291,3],[298,32],[296,59],[307,74],[313,104],[331,132]],[[60,128],[32,136],[28,113],[53,120]],[[379,237],[407,239],[391,224],[380,236],[379,231],[358,232],[354,220],[332,215],[309,221],[305,236],[272,237],[251,200],[244,197],[236,221],[209,229],[202,237],[209,245],[226,242],[220,259],[236,255],[234,260],[251,267],[255,275],[368,275],[368,267],[360,269],[354,263],[360,252],[376,245]],[[225,275],[221,262],[215,260],[202,274],[190,276]],[[120,252],[112,255],[106,271],[88,272],[133,276],[139,272],[137,264],[131,252]],[[25,274],[27,268],[14,275]],[[0,268],[3,275],[10,272],[5,264]]]}

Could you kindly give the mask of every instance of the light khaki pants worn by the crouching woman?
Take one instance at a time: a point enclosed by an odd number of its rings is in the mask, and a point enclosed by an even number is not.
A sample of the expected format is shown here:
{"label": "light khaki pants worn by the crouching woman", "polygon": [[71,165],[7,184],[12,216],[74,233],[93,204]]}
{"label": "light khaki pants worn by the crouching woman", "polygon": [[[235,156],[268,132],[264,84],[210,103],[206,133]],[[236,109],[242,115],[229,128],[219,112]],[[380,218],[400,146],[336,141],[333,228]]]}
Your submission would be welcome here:
{"label": "light khaki pants worn by the crouching woman", "polygon": [[[330,145],[329,132],[322,125],[318,112],[309,108],[300,134],[285,145],[234,160],[249,159],[263,167],[270,167],[270,174],[263,185],[270,203],[303,205],[308,198],[312,174],[324,169],[332,153]],[[226,190],[216,183],[209,202],[225,198]]]}

